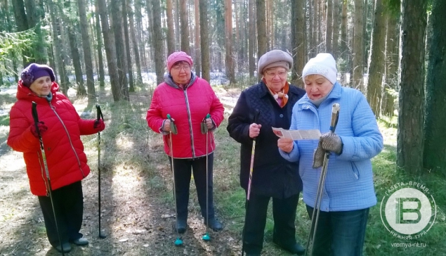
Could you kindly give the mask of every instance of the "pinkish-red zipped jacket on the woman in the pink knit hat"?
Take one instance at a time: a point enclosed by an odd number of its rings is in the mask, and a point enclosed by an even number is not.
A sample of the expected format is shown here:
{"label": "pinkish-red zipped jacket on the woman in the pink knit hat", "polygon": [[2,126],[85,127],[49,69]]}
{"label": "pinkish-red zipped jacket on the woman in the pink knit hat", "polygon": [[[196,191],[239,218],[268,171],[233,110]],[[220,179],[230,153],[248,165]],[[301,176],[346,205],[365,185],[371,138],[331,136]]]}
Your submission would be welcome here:
{"label": "pinkish-red zipped jacket on the woman in the pink knit hat", "polygon": [[[165,81],[153,92],[147,110],[147,124],[160,132],[163,121],[170,114],[178,130],[172,134],[173,158],[199,158],[206,155],[206,134],[201,132],[201,122],[209,113],[218,127],[223,121],[223,104],[206,80],[192,75],[184,90],[166,75]],[[215,149],[214,134],[209,132],[208,153]],[[164,135],[164,151],[170,154],[169,135]]]}

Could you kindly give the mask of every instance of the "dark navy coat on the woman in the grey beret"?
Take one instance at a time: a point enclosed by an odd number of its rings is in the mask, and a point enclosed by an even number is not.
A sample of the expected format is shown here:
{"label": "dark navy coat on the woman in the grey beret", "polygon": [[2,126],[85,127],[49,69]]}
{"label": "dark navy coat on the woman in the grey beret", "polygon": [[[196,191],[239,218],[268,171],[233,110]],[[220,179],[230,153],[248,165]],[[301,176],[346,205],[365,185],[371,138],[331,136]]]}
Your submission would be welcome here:
{"label": "dark navy coat on the woman in the grey beret", "polygon": [[299,177],[299,162],[289,162],[282,158],[277,148],[277,139],[271,127],[289,129],[291,111],[294,103],[305,94],[303,89],[289,85],[288,102],[280,108],[263,82],[242,91],[228,120],[228,132],[240,149],[240,185],[248,188],[249,168],[253,139],[249,137],[249,124],[254,122],[258,112],[257,124],[261,131],[256,138],[254,170],[251,193],[274,198],[288,198],[302,191]]}

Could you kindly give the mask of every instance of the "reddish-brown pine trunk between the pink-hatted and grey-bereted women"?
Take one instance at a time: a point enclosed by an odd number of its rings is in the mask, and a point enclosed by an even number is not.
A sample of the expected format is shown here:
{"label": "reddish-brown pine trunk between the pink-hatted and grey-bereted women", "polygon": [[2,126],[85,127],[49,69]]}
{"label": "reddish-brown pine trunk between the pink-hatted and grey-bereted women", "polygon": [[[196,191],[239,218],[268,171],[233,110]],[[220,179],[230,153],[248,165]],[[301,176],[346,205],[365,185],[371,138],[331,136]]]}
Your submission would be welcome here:
{"label": "reddish-brown pine trunk between the pink-hatted and grey-bereted women", "polygon": [[230,84],[235,84],[235,67],[232,58],[232,1],[225,0],[225,64]]}

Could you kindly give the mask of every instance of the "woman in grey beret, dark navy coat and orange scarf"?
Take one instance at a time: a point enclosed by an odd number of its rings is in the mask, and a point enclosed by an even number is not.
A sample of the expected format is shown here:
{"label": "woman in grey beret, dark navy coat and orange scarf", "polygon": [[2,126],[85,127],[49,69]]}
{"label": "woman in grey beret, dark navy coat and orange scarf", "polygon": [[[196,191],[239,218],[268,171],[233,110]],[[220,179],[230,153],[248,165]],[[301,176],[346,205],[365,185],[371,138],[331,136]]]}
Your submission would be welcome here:
{"label": "woman in grey beret, dark navy coat and orange scarf", "polygon": [[284,160],[277,149],[271,127],[289,129],[291,110],[305,91],[287,82],[293,59],[288,53],[273,50],[258,60],[262,81],[242,91],[228,120],[228,132],[240,149],[240,185],[248,193],[253,139],[256,139],[254,171],[244,224],[243,247],[247,255],[260,255],[263,230],[270,198],[273,198],[273,242],[292,253],[304,249],[296,243],[296,207],[302,181],[299,163]]}

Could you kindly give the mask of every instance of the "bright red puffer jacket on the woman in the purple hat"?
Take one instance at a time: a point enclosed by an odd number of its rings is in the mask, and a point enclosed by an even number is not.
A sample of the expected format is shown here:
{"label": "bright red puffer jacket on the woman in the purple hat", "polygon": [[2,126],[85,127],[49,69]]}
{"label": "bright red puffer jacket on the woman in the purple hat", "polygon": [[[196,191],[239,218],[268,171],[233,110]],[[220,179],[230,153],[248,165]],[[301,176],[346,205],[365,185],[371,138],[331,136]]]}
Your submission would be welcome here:
{"label": "bright red puffer jacket on the woman in the purple hat", "polygon": [[50,103],[23,86],[20,80],[18,101],[11,108],[8,145],[15,151],[23,152],[31,192],[36,196],[46,196],[47,182],[39,139],[29,129],[34,125],[32,101],[37,103],[39,121],[48,127],[42,139],[51,188],[55,190],[81,181],[90,173],[81,135],[97,132],[93,128],[94,120],[81,120],[70,100],[56,92],[58,89],[59,85],[53,82]]}

